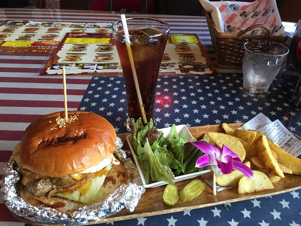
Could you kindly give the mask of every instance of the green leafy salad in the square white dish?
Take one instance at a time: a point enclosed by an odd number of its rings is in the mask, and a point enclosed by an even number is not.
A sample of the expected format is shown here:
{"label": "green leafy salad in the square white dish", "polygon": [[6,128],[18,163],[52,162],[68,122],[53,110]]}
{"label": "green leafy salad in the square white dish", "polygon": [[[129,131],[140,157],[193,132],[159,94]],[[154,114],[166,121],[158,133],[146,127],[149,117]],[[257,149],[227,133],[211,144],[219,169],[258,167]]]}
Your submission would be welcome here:
{"label": "green leafy salad in the square white dish", "polygon": [[131,135],[147,184],[157,181],[173,183],[176,176],[203,170],[195,165],[204,153],[192,145],[184,146],[188,141],[179,137],[175,125],[172,125],[169,137],[164,138],[152,120],[143,125],[141,119],[136,122],[132,119]]}

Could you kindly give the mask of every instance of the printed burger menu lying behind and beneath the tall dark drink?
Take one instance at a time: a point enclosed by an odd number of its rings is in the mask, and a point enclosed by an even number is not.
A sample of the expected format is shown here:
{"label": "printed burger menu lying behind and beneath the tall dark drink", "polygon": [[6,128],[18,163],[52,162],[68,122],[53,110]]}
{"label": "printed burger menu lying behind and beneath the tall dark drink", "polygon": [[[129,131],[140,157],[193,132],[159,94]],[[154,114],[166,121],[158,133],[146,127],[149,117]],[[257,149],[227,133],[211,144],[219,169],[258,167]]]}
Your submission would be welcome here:
{"label": "printed burger menu lying behind and beneath the tall dark drink", "polygon": [[[122,75],[111,33],[67,33],[41,75]],[[216,74],[196,34],[172,34],[162,58],[159,75]]]}

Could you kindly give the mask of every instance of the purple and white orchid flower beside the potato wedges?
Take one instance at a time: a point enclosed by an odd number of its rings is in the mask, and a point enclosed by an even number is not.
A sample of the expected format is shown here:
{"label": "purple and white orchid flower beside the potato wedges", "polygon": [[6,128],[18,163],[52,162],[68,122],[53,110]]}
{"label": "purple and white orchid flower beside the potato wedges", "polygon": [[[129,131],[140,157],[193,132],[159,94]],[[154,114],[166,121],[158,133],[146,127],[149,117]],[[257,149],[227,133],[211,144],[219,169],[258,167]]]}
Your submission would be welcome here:
{"label": "purple and white orchid flower beside the potato wedges", "polygon": [[212,171],[216,176],[231,173],[233,169],[236,169],[247,177],[253,178],[253,171],[243,164],[238,155],[226,145],[223,145],[222,149],[206,141],[187,142],[185,145],[193,145],[205,153],[197,160],[196,167],[211,165]]}

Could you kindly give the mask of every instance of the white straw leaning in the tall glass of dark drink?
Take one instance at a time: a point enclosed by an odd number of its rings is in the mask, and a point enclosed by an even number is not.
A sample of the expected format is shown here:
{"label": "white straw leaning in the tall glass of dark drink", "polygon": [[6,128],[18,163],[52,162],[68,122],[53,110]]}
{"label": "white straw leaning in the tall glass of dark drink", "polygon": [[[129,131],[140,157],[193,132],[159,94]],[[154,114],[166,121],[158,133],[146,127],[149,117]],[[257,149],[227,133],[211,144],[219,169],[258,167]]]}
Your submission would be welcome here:
{"label": "white straw leaning in the tall glass of dark drink", "polygon": [[122,21],[122,26],[123,26],[123,31],[124,31],[125,45],[126,45],[126,49],[127,49],[127,52],[128,52],[130,67],[131,67],[131,70],[132,70],[133,79],[134,79],[134,83],[135,83],[135,88],[136,88],[136,92],[137,92],[137,96],[138,96],[138,102],[139,102],[139,106],[140,106],[142,121],[143,121],[144,124],[147,124],[144,105],[143,105],[143,102],[142,102],[141,92],[140,92],[140,88],[139,88],[138,77],[137,77],[135,64],[134,64],[134,58],[133,58],[133,54],[132,54],[132,51],[131,51],[131,48],[130,48],[129,34],[128,34],[128,29],[127,29],[127,24],[126,24],[126,19],[125,19],[124,14],[121,15],[121,21]]}

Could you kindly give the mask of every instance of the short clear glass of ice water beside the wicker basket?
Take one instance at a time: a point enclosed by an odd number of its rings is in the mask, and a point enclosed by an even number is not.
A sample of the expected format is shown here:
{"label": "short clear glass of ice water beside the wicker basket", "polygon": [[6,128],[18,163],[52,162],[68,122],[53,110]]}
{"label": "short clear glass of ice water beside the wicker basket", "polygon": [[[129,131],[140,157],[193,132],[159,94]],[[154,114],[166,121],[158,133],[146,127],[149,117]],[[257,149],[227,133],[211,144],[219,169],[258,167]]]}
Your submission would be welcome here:
{"label": "short clear glass of ice water beside the wicker basket", "polygon": [[289,50],[273,41],[252,40],[244,44],[243,87],[252,93],[266,92],[279,73]]}

